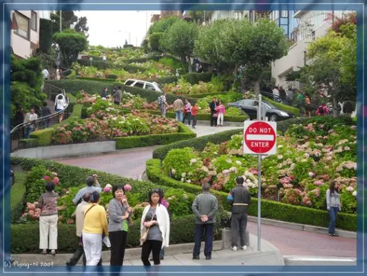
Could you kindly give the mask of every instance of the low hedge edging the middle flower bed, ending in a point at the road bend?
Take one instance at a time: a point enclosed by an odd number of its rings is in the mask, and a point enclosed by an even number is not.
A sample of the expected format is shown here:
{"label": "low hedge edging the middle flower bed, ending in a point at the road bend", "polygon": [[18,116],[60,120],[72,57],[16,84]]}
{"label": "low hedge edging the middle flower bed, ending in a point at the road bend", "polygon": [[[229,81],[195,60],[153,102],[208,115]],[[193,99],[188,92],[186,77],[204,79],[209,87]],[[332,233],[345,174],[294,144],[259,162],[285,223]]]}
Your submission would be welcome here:
{"label": "low hedge edging the middle flower bed, ending in a point at the road bend", "polygon": [[131,137],[118,137],[116,141],[116,150],[125,148],[138,148],[143,146],[165,145],[174,141],[180,141],[196,137],[196,133],[182,123],[178,123],[178,133],[163,133],[156,135],[142,135]]}

